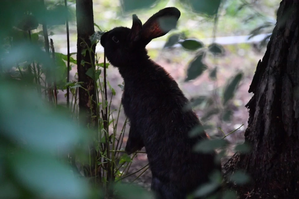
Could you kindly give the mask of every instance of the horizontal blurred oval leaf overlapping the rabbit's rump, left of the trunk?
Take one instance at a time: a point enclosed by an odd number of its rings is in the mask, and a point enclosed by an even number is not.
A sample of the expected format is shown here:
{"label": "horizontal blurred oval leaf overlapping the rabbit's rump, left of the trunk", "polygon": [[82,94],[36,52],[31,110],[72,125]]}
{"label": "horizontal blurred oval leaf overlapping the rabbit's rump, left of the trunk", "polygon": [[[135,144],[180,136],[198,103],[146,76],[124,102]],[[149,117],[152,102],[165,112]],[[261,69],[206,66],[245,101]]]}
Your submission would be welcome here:
{"label": "horizontal blurred oval leaf overlapping the rabbit's rump, left of the trunk", "polygon": [[211,153],[215,149],[225,147],[226,145],[227,141],[225,140],[202,140],[193,147],[193,150],[202,153]]}

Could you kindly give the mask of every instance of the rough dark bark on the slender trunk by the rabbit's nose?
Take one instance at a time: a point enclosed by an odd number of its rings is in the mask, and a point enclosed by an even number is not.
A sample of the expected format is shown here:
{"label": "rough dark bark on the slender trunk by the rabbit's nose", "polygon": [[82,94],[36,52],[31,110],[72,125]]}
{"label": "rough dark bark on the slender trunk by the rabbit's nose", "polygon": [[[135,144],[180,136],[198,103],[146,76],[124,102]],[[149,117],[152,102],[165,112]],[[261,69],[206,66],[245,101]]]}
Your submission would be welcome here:
{"label": "rough dark bark on the slender trunk by the rabbit's nose", "polygon": [[[82,86],[87,89],[79,88],[79,109],[80,109],[80,121],[84,124],[92,122],[94,126],[96,118],[90,117],[91,114],[96,115],[96,94],[94,90],[94,81],[92,78],[86,75],[89,68],[94,64],[94,53],[92,53],[92,58],[90,57],[88,50],[86,50],[85,56],[81,53],[84,49],[91,47],[91,41],[89,37],[94,33],[94,23],[93,23],[93,1],[92,0],[76,0],[76,17],[77,17],[77,63],[78,63],[78,81],[83,82]],[[88,46],[83,42],[85,41]],[[92,47],[93,52],[95,52],[95,45]],[[85,62],[84,65],[81,64]],[[93,103],[90,102],[89,96],[93,97]],[[92,107],[92,109],[91,109]],[[92,112],[91,112],[92,110]]]}

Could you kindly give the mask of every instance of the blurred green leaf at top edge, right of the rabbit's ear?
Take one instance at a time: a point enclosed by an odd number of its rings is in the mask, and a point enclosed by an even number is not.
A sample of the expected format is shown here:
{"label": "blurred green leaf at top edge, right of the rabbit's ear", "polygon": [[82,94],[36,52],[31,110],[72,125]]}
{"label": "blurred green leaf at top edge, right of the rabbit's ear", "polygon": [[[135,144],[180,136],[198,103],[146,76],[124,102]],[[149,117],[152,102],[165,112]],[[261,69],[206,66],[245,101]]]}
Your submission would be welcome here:
{"label": "blurred green leaf at top edge, right of the rabbit's ear", "polygon": [[192,11],[207,16],[214,16],[218,13],[221,0],[179,0],[184,5],[190,7]]}

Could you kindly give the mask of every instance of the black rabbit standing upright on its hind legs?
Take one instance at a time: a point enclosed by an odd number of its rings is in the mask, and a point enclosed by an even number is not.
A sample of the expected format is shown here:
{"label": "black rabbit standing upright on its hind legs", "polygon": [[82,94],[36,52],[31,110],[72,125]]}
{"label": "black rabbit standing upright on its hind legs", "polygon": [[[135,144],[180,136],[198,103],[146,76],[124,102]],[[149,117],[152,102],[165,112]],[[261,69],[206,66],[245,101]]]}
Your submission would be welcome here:
{"label": "black rabbit standing upright on its hind legs", "polygon": [[[132,28],[116,27],[101,37],[108,61],[119,69],[125,86],[121,102],[131,127],[126,145],[128,154],[145,146],[153,175],[152,190],[158,198],[185,198],[202,183],[214,169],[216,153],[201,154],[192,150],[199,140],[188,132],[201,125],[192,110],[183,110],[188,99],[176,81],[163,67],[147,55],[145,46],[154,38],[168,33],[161,28],[162,20],[180,17],[175,7],[167,7],[144,25],[133,15]],[[169,22],[170,23],[170,22]]]}

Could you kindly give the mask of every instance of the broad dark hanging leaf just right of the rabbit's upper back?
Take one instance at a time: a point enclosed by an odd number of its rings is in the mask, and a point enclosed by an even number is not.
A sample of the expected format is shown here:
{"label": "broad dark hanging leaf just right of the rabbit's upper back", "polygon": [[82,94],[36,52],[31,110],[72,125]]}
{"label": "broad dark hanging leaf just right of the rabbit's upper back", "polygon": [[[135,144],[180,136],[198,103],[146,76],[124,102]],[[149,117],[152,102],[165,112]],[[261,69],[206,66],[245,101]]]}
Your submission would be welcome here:
{"label": "broad dark hanging leaf just right of the rabbit's upper back", "polygon": [[194,80],[200,76],[208,67],[202,62],[204,54],[195,57],[188,66],[186,81]]}

